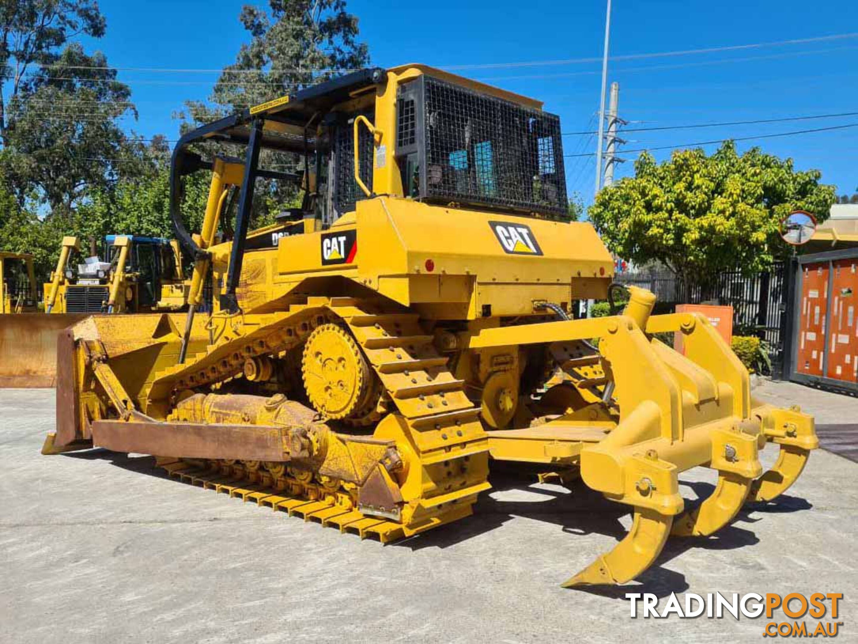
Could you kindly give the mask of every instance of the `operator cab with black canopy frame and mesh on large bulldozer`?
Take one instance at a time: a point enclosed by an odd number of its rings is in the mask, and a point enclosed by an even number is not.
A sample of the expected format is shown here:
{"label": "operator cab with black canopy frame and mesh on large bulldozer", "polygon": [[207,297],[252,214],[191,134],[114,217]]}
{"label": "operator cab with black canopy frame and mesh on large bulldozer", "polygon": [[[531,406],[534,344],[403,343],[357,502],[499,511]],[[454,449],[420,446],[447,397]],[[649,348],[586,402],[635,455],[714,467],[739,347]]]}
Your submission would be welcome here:
{"label": "operator cab with black canopy frame and mesh on large bulldozer", "polygon": [[[217,235],[233,242],[221,306],[234,311],[245,252],[349,225],[364,199],[404,197],[562,218],[559,118],[541,106],[411,64],[360,70],[221,118],[185,134],[173,150],[171,216],[178,240],[193,258],[208,257]],[[181,212],[183,178],[200,169],[221,177],[222,198],[209,196],[215,229],[192,236]],[[277,185],[292,185],[299,203],[251,232],[251,217],[278,194]]]}

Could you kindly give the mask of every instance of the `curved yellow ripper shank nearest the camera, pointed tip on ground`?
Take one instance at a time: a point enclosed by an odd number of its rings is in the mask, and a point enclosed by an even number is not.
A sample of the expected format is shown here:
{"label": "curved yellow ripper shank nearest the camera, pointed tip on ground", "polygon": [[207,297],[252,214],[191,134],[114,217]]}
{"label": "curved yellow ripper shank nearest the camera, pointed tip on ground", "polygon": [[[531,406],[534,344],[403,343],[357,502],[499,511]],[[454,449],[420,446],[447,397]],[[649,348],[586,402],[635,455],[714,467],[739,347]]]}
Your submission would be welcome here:
{"label": "curved yellow ripper shank nearest the camera, pointed tip on ground", "polygon": [[563,584],[564,588],[625,584],[650,568],[668,540],[674,517],[646,507],[635,508],[631,530],[613,550],[600,555]]}

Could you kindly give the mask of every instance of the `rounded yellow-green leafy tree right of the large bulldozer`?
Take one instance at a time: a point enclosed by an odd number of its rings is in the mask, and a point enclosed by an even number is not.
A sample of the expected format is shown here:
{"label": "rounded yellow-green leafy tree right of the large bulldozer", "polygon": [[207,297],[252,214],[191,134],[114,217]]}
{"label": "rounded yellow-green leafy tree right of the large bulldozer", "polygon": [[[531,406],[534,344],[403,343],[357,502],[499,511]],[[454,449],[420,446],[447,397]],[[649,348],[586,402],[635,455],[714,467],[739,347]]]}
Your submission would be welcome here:
{"label": "rounded yellow-green leafy tree right of the large bulldozer", "polygon": [[723,270],[764,270],[789,252],[778,228],[792,210],[825,220],[835,191],[820,178],[758,148],[739,155],[732,142],[710,156],[680,150],[662,163],[644,153],[634,177],[597,195],[589,218],[620,257],[661,262],[705,288]]}

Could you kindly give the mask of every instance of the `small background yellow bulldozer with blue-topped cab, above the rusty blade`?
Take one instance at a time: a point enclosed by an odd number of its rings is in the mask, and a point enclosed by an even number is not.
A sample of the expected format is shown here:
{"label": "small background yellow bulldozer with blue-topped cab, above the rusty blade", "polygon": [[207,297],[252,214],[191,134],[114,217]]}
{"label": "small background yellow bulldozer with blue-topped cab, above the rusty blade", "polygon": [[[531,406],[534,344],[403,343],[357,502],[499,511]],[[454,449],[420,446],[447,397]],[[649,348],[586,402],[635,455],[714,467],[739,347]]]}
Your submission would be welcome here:
{"label": "small background yellow bulldozer with blue-topped cab, above the rusty blade", "polygon": [[51,282],[45,283],[45,313],[140,313],[181,311],[190,282],[184,280],[176,240],[108,234],[102,262],[87,258],[76,237],[64,237]]}

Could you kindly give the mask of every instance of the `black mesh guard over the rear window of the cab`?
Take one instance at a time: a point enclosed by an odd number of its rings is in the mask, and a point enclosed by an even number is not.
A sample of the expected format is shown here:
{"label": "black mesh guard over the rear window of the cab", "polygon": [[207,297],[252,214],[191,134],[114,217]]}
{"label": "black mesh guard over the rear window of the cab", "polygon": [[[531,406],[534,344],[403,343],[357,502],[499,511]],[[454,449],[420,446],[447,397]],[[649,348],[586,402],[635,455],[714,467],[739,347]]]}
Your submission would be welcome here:
{"label": "black mesh guard over the rear window of the cab", "polygon": [[401,88],[397,157],[429,201],[565,214],[560,120],[432,76]]}

